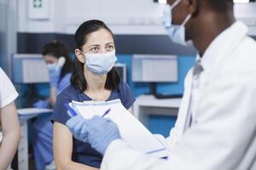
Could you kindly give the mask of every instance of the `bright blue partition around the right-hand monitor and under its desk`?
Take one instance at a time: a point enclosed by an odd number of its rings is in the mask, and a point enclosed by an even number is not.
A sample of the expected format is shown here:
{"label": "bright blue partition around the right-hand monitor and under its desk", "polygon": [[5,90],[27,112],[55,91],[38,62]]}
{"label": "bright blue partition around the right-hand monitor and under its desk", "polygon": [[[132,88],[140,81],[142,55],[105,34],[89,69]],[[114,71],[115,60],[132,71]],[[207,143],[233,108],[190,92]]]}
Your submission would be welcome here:
{"label": "bright blue partition around the right-hand monitor and under its desk", "polygon": [[[178,82],[160,83],[158,92],[161,94],[183,94],[183,82],[189,69],[195,63],[195,56],[178,56]],[[127,82],[131,92],[137,97],[149,92],[147,82],[131,81],[131,55],[118,55],[118,62],[127,65]],[[156,68],[157,69],[157,68]],[[170,129],[176,122],[175,116],[149,116],[149,130],[152,133],[160,133],[168,136]]]}

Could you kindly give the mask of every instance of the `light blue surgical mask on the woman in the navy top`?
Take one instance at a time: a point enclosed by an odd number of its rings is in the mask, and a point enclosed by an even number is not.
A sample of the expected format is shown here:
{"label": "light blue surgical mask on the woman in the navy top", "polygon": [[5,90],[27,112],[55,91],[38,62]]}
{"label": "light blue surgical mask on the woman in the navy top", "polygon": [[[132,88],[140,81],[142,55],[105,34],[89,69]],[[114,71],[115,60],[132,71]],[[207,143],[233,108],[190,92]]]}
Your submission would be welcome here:
{"label": "light blue surgical mask on the woman in the navy top", "polygon": [[84,54],[86,66],[91,72],[96,75],[105,75],[113,68],[117,58],[115,56],[115,50],[106,54]]}

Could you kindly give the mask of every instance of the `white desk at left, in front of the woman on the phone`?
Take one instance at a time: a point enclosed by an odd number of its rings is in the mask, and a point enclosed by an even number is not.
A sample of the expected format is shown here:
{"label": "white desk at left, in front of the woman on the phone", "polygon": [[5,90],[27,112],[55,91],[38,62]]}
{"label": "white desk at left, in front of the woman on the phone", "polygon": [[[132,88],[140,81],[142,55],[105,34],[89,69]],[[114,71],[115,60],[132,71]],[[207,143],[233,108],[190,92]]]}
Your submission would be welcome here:
{"label": "white desk at left, in front of the woman on the phone", "polygon": [[28,140],[27,121],[44,113],[52,113],[50,109],[20,109],[17,110],[20,121],[20,144],[18,148],[18,169],[28,170]]}

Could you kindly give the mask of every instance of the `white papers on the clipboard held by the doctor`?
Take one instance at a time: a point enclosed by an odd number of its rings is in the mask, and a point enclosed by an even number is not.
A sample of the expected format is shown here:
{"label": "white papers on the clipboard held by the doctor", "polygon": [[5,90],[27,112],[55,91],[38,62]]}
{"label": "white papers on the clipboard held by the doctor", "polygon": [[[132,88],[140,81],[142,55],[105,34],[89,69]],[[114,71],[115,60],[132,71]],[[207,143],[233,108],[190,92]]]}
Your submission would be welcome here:
{"label": "white papers on the clipboard held by the doctor", "polygon": [[69,112],[73,112],[71,113],[72,115],[79,114],[85,119],[91,119],[93,116],[103,116],[109,110],[104,117],[117,124],[121,138],[131,148],[157,158],[169,155],[169,150],[166,146],[156,139],[135,116],[132,116],[119,99],[107,102],[84,101],[81,103],[73,101],[66,107]]}

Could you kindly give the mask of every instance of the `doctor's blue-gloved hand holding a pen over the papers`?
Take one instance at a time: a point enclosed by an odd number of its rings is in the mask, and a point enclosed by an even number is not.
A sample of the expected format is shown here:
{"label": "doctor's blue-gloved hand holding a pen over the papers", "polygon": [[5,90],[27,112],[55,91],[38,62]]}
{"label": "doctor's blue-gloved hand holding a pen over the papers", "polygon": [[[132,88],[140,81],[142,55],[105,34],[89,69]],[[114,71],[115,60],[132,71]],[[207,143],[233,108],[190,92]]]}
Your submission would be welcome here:
{"label": "doctor's blue-gloved hand holding a pen over the papers", "polygon": [[87,120],[82,116],[74,116],[66,123],[74,138],[89,143],[92,148],[104,155],[108,145],[120,139],[119,129],[114,122],[101,116]]}

